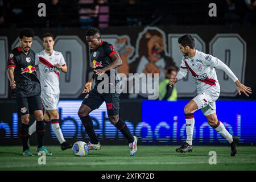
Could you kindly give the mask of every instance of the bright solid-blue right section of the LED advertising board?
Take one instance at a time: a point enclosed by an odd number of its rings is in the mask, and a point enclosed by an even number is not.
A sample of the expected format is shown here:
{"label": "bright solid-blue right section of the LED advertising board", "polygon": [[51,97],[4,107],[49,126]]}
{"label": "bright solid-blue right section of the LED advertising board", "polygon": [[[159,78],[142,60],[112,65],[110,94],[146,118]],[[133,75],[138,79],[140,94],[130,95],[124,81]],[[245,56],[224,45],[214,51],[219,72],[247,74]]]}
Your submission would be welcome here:
{"label": "bright solid-blue right section of the LED advertising board", "polygon": [[[180,144],[185,142],[184,107],[189,101],[143,101],[143,143]],[[217,101],[216,113],[231,135],[237,135],[240,143],[256,142],[255,101]],[[208,125],[201,110],[194,113],[195,128],[193,143],[228,143]]]}

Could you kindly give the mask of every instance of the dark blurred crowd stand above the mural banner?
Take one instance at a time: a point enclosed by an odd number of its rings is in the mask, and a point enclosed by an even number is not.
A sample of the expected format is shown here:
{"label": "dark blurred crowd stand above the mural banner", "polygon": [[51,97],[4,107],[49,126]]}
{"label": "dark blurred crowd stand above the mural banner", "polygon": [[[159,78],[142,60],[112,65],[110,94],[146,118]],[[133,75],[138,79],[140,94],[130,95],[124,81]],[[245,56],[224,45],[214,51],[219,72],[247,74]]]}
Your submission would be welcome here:
{"label": "dark blurred crowd stand above the mural banner", "polygon": [[[46,4],[46,17],[38,4]],[[209,3],[217,16],[208,16]],[[0,0],[0,27],[119,27],[226,25],[251,27],[256,22],[255,0]]]}

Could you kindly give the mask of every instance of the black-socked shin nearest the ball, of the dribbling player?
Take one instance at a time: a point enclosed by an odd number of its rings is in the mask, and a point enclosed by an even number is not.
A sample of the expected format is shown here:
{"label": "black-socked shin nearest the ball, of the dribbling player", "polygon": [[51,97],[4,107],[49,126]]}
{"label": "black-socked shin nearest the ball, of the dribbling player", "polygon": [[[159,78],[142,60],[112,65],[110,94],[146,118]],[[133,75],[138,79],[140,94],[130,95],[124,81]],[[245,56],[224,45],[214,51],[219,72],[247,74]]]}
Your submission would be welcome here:
{"label": "black-socked shin nearest the ball, of the dribbling player", "polygon": [[95,131],[93,129],[92,118],[90,118],[89,115],[86,115],[85,117],[80,117],[80,119],[82,121],[82,125],[85,128],[86,133],[88,134],[88,136],[90,138],[90,143],[97,144],[98,139],[97,139],[97,136],[96,136]]}

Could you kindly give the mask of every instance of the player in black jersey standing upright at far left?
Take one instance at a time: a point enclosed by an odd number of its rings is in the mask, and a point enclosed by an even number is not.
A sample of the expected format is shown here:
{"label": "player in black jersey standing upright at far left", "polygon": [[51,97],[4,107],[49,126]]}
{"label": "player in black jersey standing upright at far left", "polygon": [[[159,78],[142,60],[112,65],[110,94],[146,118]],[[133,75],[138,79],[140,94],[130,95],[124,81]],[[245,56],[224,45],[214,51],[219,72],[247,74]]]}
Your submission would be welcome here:
{"label": "player in black jersey standing upright at far left", "polygon": [[31,49],[33,38],[34,31],[30,28],[23,28],[19,32],[20,46],[14,48],[8,58],[8,78],[13,98],[17,102],[18,115],[22,121],[19,134],[22,139],[23,155],[32,156],[28,147],[28,124],[32,113],[35,115],[38,135],[36,152],[44,151],[47,155],[51,155],[51,152],[43,146],[45,124],[40,98],[41,86],[35,69],[35,52]]}

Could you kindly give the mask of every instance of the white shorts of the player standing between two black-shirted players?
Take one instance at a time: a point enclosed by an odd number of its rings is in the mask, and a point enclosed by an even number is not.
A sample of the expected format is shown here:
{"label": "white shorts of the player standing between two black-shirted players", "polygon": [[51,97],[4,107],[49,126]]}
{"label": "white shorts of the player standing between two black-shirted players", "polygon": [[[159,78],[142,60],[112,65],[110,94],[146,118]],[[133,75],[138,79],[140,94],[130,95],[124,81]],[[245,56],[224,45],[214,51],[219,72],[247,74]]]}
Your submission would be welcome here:
{"label": "white shorts of the player standing between two black-shirted players", "polygon": [[60,94],[51,94],[42,91],[41,99],[45,110],[55,110],[59,103]]}

